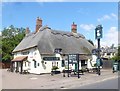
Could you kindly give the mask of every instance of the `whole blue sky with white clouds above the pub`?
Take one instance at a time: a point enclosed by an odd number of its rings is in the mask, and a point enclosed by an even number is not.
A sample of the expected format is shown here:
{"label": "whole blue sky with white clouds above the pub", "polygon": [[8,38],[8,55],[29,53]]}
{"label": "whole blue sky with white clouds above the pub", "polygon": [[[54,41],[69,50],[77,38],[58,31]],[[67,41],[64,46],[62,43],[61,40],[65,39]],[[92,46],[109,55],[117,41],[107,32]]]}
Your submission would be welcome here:
{"label": "whole blue sky with white clouds above the pub", "polygon": [[118,44],[118,2],[2,2],[2,31],[5,27],[29,27],[35,31],[36,18],[43,20],[43,26],[71,32],[71,24],[77,24],[77,32],[86,39],[95,39],[95,27],[103,27],[102,46]]}

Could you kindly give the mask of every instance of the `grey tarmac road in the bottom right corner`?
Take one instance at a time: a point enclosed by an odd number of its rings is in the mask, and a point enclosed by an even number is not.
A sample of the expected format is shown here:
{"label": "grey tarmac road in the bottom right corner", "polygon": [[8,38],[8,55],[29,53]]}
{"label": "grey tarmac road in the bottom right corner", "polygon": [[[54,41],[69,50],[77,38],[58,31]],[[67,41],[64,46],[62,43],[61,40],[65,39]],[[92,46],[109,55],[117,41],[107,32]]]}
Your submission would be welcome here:
{"label": "grey tarmac road in the bottom right corner", "polygon": [[84,85],[80,87],[75,87],[75,89],[118,89],[118,78],[105,80],[102,82]]}

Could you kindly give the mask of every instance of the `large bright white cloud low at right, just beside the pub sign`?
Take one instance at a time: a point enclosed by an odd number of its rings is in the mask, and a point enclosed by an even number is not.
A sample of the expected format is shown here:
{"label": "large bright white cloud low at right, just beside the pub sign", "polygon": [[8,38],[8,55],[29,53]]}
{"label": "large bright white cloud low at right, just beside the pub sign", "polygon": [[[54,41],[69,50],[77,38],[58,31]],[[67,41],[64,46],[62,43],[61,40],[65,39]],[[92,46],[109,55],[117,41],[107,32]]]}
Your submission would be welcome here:
{"label": "large bright white cloud low at right, just beside the pub sign", "polygon": [[[120,34],[120,31],[117,30],[117,27],[111,27],[106,34],[103,34],[103,38],[101,39],[101,46],[111,46],[112,44],[117,46],[118,33]],[[95,44],[97,45],[97,41]]]}

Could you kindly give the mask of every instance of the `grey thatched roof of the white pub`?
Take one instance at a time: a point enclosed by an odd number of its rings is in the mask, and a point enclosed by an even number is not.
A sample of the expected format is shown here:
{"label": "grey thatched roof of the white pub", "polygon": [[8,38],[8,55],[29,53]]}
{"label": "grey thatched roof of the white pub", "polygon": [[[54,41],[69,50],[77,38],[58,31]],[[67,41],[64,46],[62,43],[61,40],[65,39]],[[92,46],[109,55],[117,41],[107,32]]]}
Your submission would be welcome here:
{"label": "grey thatched roof of the white pub", "polygon": [[52,30],[42,27],[37,33],[28,34],[13,52],[38,47],[41,54],[54,54],[61,48],[63,54],[90,54],[94,48],[82,34]]}

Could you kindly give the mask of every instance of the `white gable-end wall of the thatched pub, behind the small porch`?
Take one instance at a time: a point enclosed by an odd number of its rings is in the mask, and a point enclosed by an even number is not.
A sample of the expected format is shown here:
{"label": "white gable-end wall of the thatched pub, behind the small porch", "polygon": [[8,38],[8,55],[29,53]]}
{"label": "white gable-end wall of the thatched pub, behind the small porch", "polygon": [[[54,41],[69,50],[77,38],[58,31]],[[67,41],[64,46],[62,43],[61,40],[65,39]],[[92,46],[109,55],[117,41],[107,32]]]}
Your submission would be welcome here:
{"label": "white gable-end wall of the thatched pub, behind the small porch", "polygon": [[[28,59],[26,60],[28,62],[26,62],[26,61],[23,62],[23,70],[29,69],[28,71],[30,73],[40,74],[41,56],[39,54],[38,49],[31,48],[31,49],[26,50],[26,51],[29,51],[29,54],[23,55],[22,52],[17,52],[17,53],[15,53],[14,58],[18,57],[18,56],[28,56]],[[34,67],[33,59],[36,60],[36,68]],[[25,66],[25,63],[26,63],[26,66]],[[15,62],[15,67],[16,67],[16,62]],[[20,67],[19,67],[19,69],[20,69]]]}

